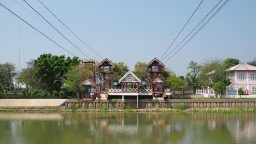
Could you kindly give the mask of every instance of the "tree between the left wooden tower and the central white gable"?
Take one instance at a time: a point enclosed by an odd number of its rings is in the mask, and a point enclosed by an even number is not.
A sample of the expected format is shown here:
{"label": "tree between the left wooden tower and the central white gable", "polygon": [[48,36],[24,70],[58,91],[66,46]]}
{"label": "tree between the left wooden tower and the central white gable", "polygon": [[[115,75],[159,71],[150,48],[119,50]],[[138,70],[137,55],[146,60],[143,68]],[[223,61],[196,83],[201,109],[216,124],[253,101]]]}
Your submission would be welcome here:
{"label": "tree between the left wooden tower and the central white gable", "polygon": [[127,71],[129,71],[127,65],[124,62],[118,62],[115,64],[115,72],[112,75],[112,81],[118,81],[121,79],[122,76],[124,76]]}

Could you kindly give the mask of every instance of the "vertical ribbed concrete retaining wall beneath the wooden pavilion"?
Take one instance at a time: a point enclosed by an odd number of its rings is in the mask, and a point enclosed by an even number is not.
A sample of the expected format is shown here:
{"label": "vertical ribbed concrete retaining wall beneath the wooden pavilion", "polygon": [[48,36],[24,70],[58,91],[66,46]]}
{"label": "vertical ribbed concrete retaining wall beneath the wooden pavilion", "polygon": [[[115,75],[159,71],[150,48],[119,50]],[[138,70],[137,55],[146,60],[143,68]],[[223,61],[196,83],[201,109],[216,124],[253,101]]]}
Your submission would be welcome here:
{"label": "vertical ribbed concrete retaining wall beneath the wooden pavilion", "polygon": [[133,107],[139,109],[145,108],[172,108],[179,105],[188,105],[195,108],[214,108],[214,107],[247,107],[256,108],[256,99],[168,99],[168,100],[95,100],[82,102],[81,100],[66,100],[66,108],[72,105],[82,108],[100,108],[100,107]]}

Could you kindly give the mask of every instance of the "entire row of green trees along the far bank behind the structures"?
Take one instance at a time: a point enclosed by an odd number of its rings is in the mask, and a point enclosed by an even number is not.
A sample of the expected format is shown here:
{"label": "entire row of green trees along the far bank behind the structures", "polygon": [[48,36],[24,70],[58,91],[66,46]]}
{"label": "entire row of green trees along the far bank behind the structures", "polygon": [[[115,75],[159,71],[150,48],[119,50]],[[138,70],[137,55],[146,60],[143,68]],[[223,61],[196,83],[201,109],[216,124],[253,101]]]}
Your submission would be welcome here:
{"label": "entire row of green trees along the far bank behind the structures", "polygon": [[[224,61],[217,58],[210,59],[203,61],[202,64],[191,61],[188,65],[189,72],[185,76],[177,76],[173,71],[165,68],[162,74],[164,87],[171,88],[173,93],[175,91],[193,91],[195,93],[197,88],[202,87],[212,87],[218,92],[224,91],[226,86],[230,85],[229,79],[226,79],[225,70],[238,63],[240,61],[235,58],[227,58]],[[114,62],[114,64],[115,72],[110,75],[112,82],[118,81],[129,71],[129,67],[124,62]],[[248,64],[256,66],[256,59],[254,58]],[[147,63],[137,62],[133,73],[149,86],[150,77],[147,69]],[[214,73],[208,75],[211,71]],[[13,91],[15,82],[26,87],[21,91],[24,96],[64,97],[73,95],[79,97],[79,84],[83,79],[92,78],[92,74],[88,71],[83,73],[83,65],[78,57],[55,56],[50,53],[26,62],[26,67],[21,69],[19,76],[15,64],[0,63],[0,95],[17,95],[17,91]],[[96,83],[101,85],[102,75],[96,70],[95,76]],[[211,80],[209,76],[211,76]]]}

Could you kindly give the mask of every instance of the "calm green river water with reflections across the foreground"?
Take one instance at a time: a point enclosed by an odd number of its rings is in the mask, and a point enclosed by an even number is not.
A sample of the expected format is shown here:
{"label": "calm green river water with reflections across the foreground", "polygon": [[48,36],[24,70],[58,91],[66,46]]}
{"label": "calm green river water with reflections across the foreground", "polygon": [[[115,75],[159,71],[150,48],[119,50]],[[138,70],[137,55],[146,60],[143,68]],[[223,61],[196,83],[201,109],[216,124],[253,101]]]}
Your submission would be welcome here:
{"label": "calm green river water with reflections across the foreground", "polygon": [[0,113],[0,143],[256,143],[256,113]]}

